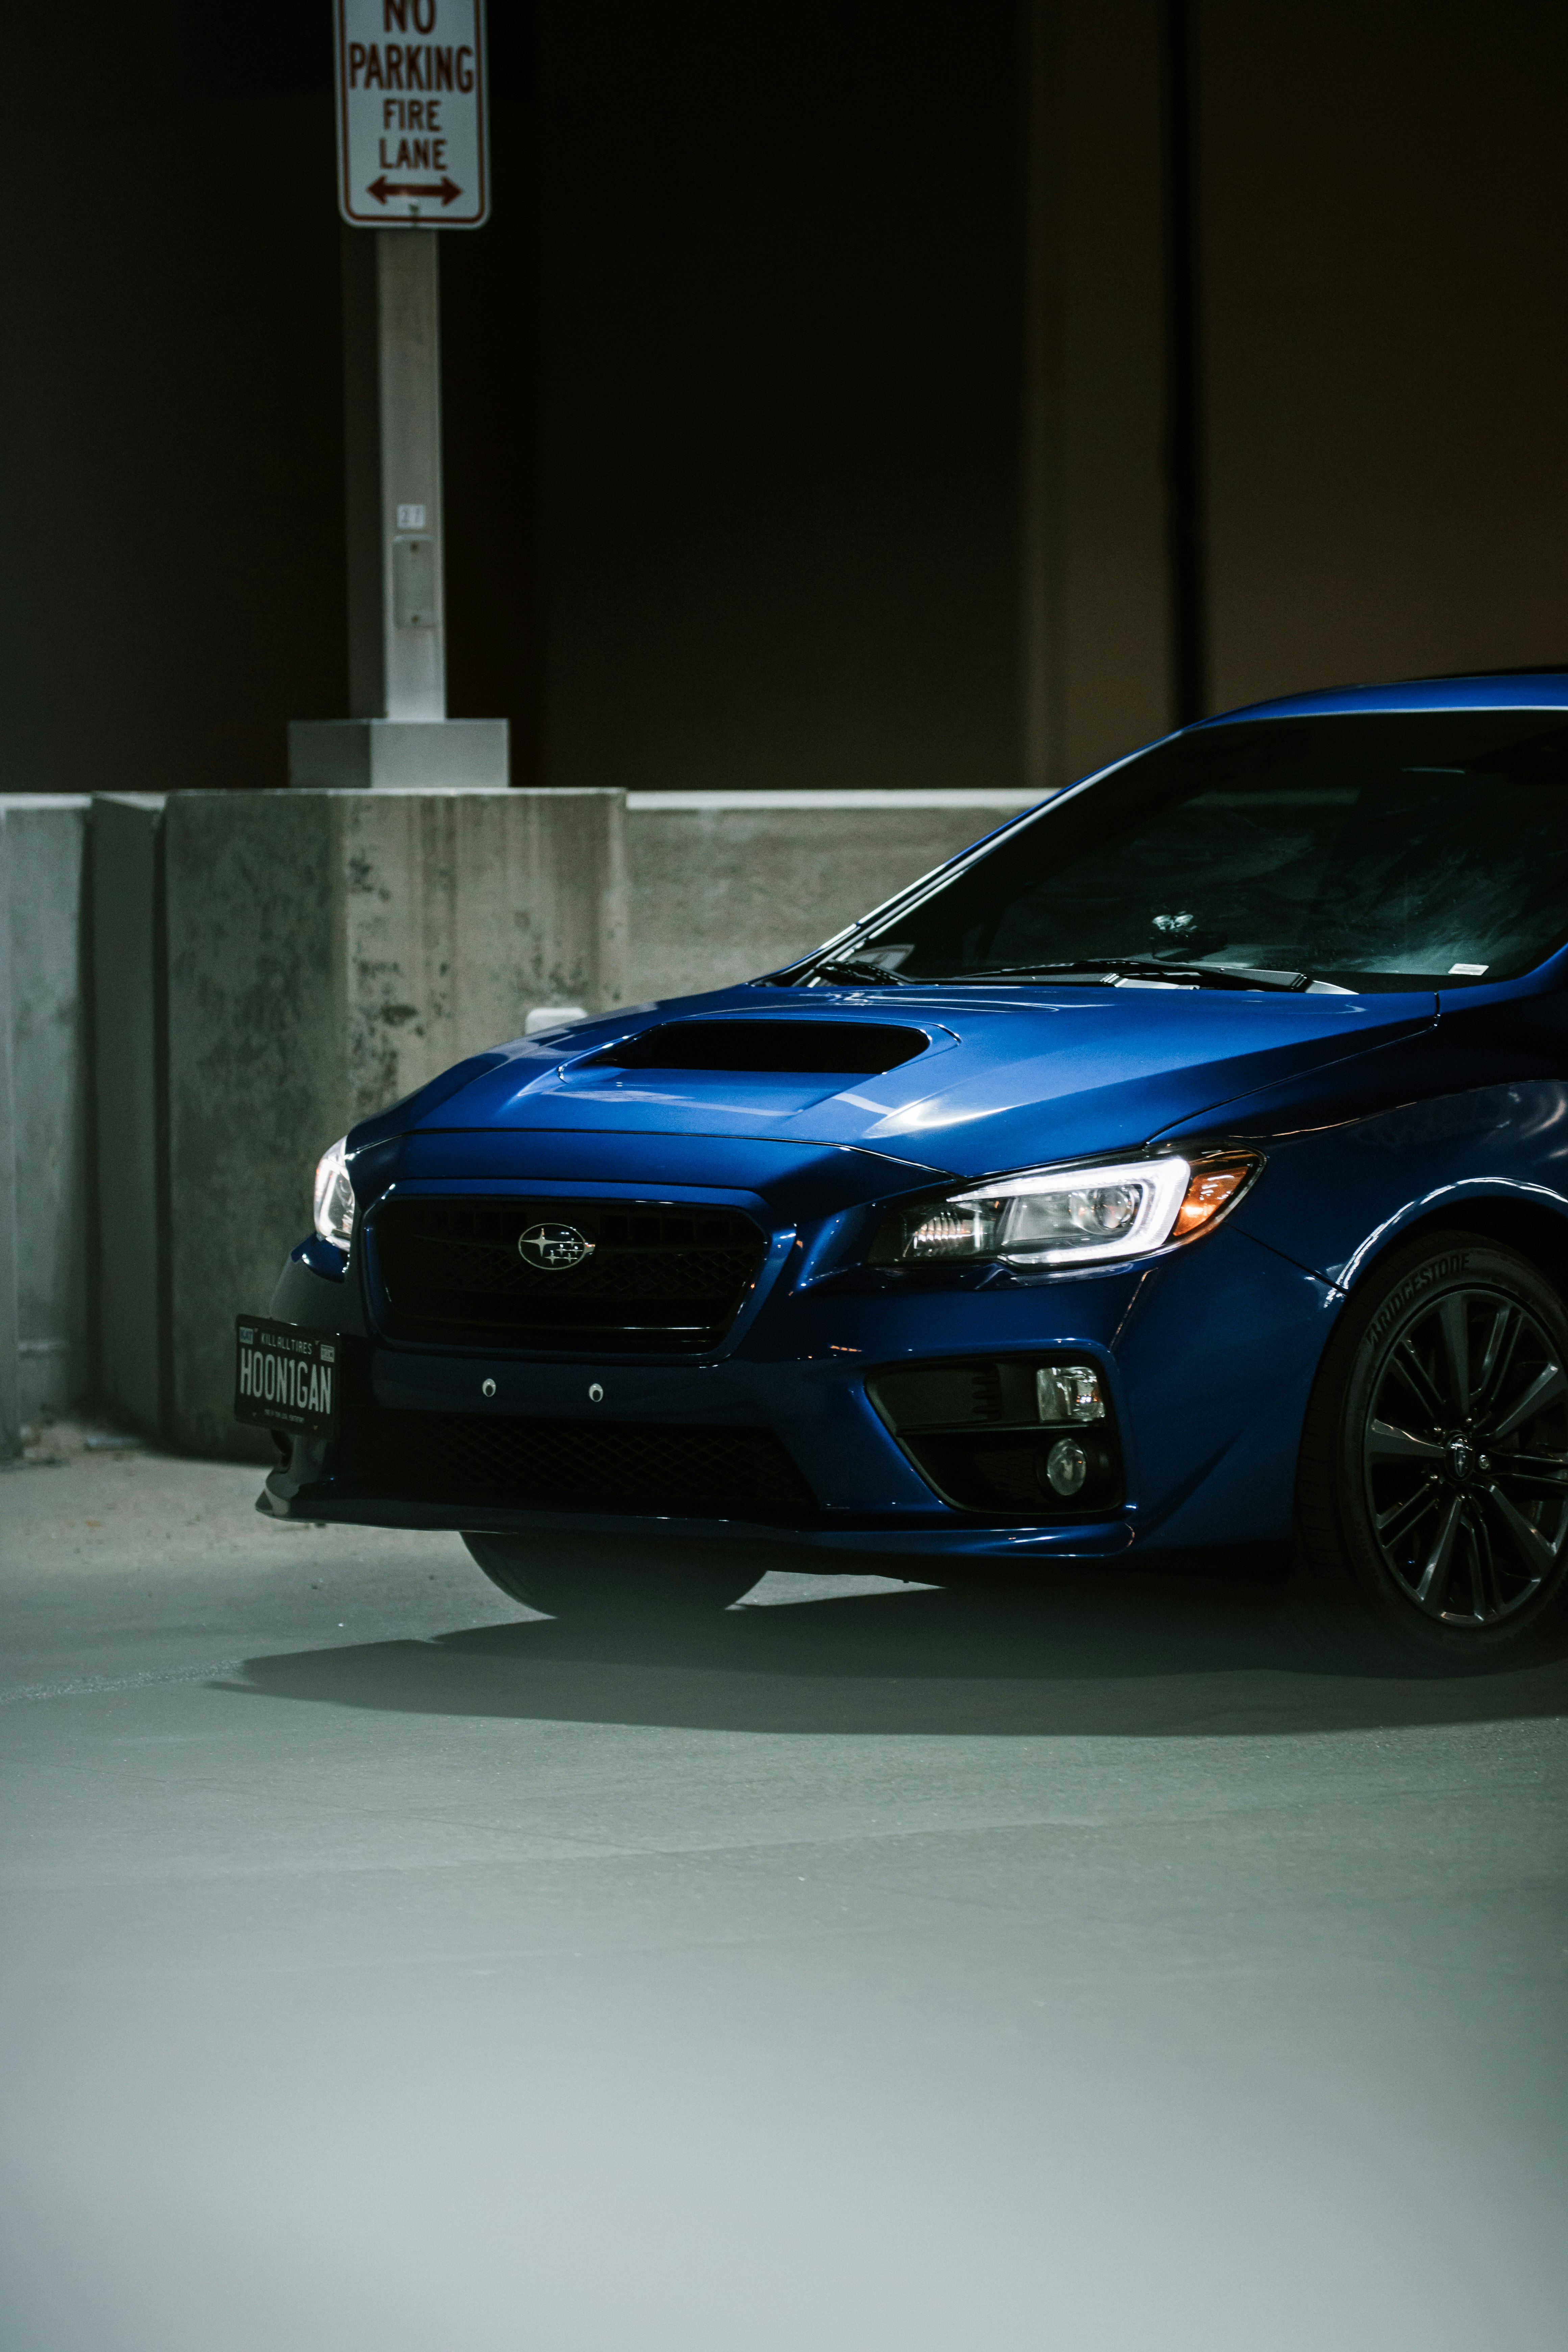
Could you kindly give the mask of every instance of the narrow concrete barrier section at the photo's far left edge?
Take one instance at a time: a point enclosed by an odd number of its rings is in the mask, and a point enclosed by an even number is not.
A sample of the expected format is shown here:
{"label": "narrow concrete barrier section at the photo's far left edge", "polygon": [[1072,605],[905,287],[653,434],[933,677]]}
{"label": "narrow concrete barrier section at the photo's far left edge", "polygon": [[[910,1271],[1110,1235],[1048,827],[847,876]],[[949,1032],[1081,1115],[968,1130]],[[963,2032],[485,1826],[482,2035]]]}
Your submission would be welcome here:
{"label": "narrow concrete barrier section at the photo's far left edge", "polygon": [[87,800],[0,797],[0,1451],[92,1388]]}

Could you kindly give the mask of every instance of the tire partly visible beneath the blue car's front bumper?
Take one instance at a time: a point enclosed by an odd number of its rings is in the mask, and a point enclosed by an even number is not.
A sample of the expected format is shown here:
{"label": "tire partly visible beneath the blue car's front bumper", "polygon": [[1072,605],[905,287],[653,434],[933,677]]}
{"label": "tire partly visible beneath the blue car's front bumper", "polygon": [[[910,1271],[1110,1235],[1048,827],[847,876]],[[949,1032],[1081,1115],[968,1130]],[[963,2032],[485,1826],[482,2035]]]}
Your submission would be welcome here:
{"label": "tire partly visible beneath the blue car's front bumper", "polygon": [[571,1623],[668,1623],[729,1609],[766,1573],[755,1557],[618,1536],[463,1536],[494,1585]]}

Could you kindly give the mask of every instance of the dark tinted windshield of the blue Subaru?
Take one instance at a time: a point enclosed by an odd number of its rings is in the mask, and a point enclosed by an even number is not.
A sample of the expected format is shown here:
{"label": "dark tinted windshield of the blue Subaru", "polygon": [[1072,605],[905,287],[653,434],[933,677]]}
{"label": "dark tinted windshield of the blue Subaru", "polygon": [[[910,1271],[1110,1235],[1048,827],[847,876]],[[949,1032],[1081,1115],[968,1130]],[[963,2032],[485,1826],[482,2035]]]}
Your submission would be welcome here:
{"label": "dark tinted windshield of the blue Subaru", "polygon": [[1373,990],[1509,978],[1566,936],[1568,724],[1446,710],[1175,736],[842,955],[898,981],[1154,962]]}

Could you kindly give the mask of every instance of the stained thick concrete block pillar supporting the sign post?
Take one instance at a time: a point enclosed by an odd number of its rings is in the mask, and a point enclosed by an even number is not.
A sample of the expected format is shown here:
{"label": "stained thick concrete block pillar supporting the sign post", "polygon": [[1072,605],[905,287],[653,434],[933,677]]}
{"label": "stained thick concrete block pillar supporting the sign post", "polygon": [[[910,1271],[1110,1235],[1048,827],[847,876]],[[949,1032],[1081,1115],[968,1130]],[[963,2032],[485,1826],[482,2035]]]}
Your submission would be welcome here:
{"label": "stained thick concrete block pillar supporting the sign post", "polygon": [[[233,1317],[266,1308],[346,1127],[625,990],[618,793],[176,793],[167,957],[167,1435],[230,1418]],[[120,1308],[115,1305],[118,1315]]]}

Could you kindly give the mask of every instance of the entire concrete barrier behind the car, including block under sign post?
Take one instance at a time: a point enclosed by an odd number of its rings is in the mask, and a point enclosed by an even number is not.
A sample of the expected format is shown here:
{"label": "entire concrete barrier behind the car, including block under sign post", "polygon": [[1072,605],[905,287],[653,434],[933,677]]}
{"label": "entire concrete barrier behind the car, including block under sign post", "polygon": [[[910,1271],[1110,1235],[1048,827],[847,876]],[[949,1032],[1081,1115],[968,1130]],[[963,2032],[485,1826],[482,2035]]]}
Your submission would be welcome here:
{"label": "entire concrete barrier behind the car, including block under sign post", "polygon": [[228,1414],[233,1315],[266,1305],[353,1120],[536,1004],[790,962],[1023,804],[289,790],[99,795],[87,823],[0,800],[0,1454],[85,1395],[261,1451]]}

